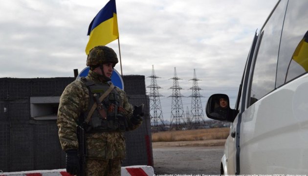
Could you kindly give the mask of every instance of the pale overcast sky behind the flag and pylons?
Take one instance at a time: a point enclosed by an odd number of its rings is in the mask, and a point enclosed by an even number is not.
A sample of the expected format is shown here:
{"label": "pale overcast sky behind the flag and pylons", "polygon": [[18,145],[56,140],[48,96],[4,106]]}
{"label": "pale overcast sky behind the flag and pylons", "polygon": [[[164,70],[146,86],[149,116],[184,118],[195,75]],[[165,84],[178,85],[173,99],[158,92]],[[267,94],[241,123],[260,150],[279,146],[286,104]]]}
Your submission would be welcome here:
{"label": "pale overcast sky behind the flag and pylons", "polygon": [[[0,1],[0,77],[73,77],[73,69],[85,68],[88,25],[108,0]],[[202,107],[211,94],[226,93],[233,108],[254,33],[276,3],[116,0],[123,74],[147,77],[154,65],[165,120],[174,67],[184,96],[192,93],[196,69]],[[117,41],[108,46],[118,54]],[[120,72],[119,64],[115,68]],[[182,101],[186,112],[191,98]]]}

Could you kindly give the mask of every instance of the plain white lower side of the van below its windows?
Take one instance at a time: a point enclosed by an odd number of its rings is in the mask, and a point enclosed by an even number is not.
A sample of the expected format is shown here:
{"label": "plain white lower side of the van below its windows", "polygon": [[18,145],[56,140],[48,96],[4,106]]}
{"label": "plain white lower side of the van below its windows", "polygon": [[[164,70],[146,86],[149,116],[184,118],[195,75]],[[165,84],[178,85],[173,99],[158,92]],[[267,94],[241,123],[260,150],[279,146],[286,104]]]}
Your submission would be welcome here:
{"label": "plain white lower side of the van below its windows", "polygon": [[307,90],[306,74],[242,113],[241,174],[308,173]]}

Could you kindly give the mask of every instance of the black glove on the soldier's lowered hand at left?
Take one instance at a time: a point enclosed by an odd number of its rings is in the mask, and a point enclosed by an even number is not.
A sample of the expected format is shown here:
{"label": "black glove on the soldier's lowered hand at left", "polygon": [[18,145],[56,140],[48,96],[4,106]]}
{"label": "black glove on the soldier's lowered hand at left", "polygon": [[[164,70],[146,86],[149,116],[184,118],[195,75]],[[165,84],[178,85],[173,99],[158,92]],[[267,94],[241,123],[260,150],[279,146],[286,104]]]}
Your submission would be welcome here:
{"label": "black glove on the soldier's lowered hand at left", "polygon": [[66,172],[71,175],[76,175],[80,172],[79,159],[76,149],[70,149],[66,152]]}

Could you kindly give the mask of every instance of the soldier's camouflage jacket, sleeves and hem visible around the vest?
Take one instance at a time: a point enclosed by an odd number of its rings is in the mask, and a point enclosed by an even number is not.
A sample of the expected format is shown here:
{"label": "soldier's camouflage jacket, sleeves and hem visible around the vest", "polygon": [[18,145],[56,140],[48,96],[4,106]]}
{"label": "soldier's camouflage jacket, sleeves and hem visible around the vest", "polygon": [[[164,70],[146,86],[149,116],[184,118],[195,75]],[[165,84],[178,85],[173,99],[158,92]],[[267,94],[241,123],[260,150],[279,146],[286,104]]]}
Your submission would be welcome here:
{"label": "soldier's camouflage jacket, sleeves and hem visible around the vest", "polygon": [[[108,84],[100,82],[98,74],[91,70],[86,78],[98,84]],[[130,119],[133,111],[132,105],[128,102],[127,95],[123,90],[120,88],[116,88],[116,90],[121,98],[121,107],[128,111],[126,117]],[[88,104],[89,92],[83,81],[75,80],[63,91],[60,98],[57,125],[60,143],[64,151],[78,149],[76,130],[78,117],[82,112],[88,110]],[[134,130],[140,125],[141,123],[131,126],[129,130]],[[124,132],[87,133],[86,146],[88,157],[112,159],[124,158],[126,155]]]}

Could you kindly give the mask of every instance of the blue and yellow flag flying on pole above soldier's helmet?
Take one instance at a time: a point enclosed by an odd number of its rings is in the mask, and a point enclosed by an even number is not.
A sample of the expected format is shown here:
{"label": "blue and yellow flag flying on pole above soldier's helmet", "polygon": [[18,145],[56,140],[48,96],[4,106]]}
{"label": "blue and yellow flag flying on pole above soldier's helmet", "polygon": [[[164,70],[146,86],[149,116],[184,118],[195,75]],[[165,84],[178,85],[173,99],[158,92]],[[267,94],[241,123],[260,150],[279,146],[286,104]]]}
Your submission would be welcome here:
{"label": "blue and yellow flag flying on pole above soldier's helmet", "polygon": [[115,0],[110,0],[94,17],[88,29],[86,54],[98,45],[106,45],[119,38]]}

